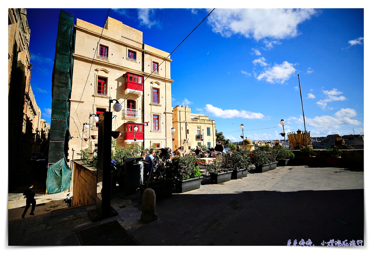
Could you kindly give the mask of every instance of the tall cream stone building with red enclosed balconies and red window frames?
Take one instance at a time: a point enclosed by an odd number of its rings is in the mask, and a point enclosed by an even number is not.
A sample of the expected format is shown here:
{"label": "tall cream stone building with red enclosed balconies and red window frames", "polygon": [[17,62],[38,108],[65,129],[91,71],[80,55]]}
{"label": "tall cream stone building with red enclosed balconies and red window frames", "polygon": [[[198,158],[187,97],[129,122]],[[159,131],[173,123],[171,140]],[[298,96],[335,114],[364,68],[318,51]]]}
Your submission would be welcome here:
{"label": "tall cream stone building with red enclosed balconies and red window frames", "polygon": [[[109,110],[110,99],[122,105],[120,112],[111,109],[119,147],[171,146],[169,53],[144,44],[141,31],[110,17],[105,28],[77,19],[74,31],[68,158],[73,148],[97,147],[93,117]],[[84,123],[90,127],[84,129]]]}

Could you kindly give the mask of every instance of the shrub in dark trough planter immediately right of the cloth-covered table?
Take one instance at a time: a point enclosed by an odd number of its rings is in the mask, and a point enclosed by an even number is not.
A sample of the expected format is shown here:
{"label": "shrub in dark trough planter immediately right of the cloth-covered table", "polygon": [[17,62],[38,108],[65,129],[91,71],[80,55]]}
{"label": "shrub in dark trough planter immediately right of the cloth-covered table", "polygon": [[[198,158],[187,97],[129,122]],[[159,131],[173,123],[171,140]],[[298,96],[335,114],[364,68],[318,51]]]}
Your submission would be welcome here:
{"label": "shrub in dark trough planter immediately right of the cloth-covered table", "polygon": [[212,164],[208,165],[206,170],[211,175],[212,184],[231,180],[232,168],[228,166],[228,160],[228,155],[223,154],[222,157],[216,158]]}

